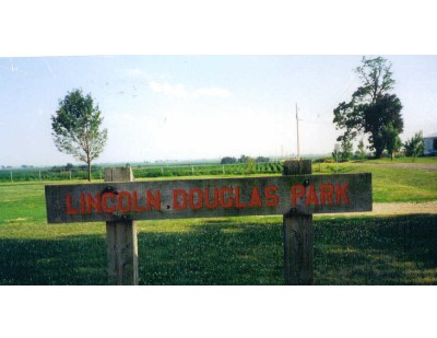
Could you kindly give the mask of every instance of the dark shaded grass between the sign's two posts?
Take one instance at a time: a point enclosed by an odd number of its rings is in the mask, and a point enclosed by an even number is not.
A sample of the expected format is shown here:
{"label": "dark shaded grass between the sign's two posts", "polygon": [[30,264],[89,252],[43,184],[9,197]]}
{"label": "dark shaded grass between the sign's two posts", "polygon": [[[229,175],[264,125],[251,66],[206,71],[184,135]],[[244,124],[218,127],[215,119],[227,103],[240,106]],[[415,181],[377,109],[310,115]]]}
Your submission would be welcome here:
{"label": "dark shaded grass between the sign's two posts", "polygon": [[142,284],[283,284],[279,223],[205,220],[185,233],[140,233]]}

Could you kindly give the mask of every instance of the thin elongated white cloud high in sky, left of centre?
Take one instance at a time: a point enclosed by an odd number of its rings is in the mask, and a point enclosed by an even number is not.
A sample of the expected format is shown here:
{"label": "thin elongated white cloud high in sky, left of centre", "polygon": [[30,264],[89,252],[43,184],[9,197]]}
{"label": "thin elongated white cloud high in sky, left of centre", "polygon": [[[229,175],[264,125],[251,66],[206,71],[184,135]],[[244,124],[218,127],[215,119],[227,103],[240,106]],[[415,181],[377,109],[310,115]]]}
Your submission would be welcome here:
{"label": "thin elongated white cloud high in sky, left of centre", "polygon": [[188,97],[227,97],[231,92],[221,88],[200,88],[188,90],[184,84],[170,84],[167,82],[150,81],[149,86],[155,93],[163,93],[178,98]]}

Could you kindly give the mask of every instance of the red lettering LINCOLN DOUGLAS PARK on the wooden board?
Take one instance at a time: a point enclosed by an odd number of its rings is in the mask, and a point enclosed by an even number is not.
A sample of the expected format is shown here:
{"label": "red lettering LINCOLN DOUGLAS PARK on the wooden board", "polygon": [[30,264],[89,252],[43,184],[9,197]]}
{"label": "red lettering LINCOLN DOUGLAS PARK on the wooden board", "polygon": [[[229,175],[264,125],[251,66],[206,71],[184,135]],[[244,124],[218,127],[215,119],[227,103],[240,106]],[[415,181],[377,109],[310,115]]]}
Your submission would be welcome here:
{"label": "red lettering LINCOLN DOUGLAS PARK on the wooden board", "polygon": [[[349,184],[320,184],[304,186],[300,184],[292,185],[291,202],[293,207],[303,205],[298,199],[305,198],[305,206],[327,206],[327,205],[350,205],[347,196]],[[269,185],[261,190],[253,186],[245,190],[240,186],[227,186],[222,188],[191,188],[173,190],[173,209],[191,210],[200,209],[223,209],[236,208],[262,208],[276,207],[280,203],[279,187]],[[248,193],[250,191],[250,196]],[[92,213],[114,213],[119,212],[145,212],[151,210],[161,210],[161,191],[146,190],[143,196],[138,191],[120,191],[117,195],[113,193],[81,193],[79,200],[73,200],[72,194],[66,194],[67,214],[92,214]]]}

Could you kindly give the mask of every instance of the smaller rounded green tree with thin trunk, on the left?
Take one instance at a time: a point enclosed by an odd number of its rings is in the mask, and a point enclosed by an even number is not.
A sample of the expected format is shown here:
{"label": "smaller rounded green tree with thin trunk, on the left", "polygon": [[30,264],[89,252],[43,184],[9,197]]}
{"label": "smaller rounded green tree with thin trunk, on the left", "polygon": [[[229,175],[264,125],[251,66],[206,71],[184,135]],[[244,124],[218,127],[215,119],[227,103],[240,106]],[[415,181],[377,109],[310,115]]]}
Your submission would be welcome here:
{"label": "smaller rounded green tree with thin trunk, on the left", "polygon": [[88,180],[91,163],[99,156],[108,137],[107,129],[101,129],[102,121],[98,105],[94,105],[91,95],[84,95],[82,90],[68,92],[51,116],[51,135],[56,147],[87,164]]}

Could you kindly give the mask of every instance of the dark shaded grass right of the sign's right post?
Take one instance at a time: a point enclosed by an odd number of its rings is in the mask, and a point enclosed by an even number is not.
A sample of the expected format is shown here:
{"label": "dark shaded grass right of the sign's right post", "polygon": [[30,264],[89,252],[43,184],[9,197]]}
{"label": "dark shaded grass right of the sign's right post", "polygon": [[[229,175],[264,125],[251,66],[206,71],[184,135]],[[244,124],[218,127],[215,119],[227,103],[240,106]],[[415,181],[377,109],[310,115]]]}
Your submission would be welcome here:
{"label": "dark shaded grass right of the sign's right post", "polygon": [[320,220],[318,284],[437,284],[437,215]]}

